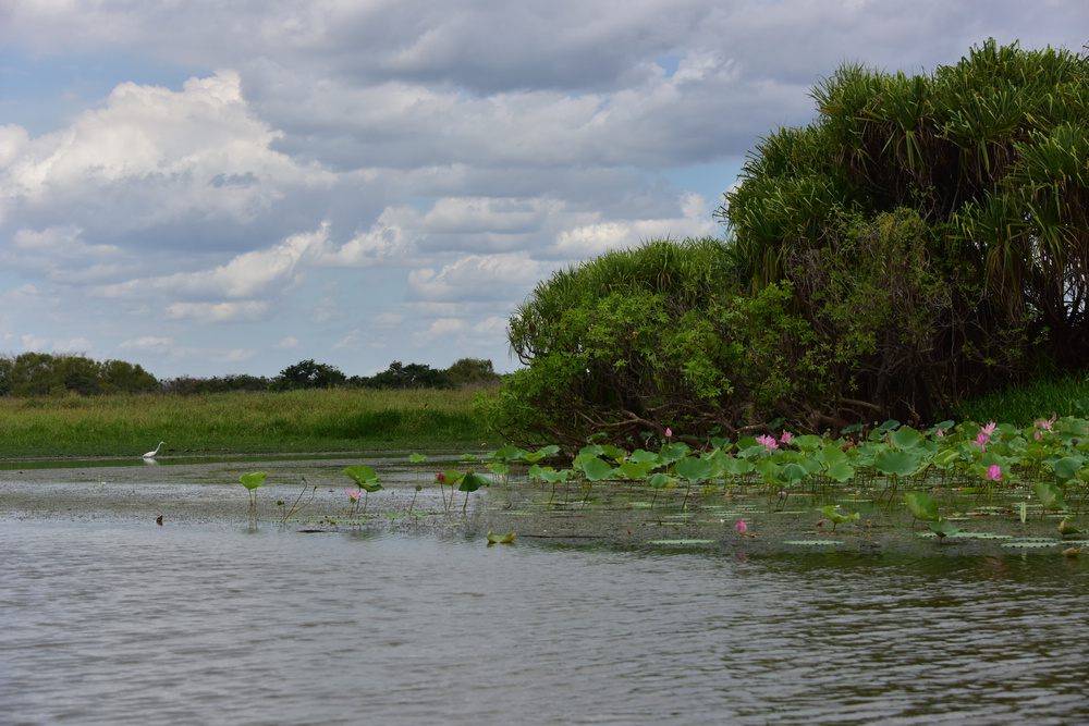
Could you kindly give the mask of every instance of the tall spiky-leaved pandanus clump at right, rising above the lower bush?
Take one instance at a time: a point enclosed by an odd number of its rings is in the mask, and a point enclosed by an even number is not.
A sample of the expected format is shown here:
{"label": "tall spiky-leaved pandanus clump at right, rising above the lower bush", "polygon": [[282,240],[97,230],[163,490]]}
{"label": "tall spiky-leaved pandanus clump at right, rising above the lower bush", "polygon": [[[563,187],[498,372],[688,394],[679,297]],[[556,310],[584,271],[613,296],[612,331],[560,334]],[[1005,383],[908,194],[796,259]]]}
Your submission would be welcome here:
{"label": "tall spiky-leaved pandanus clump at right, rising above the lower bush", "polygon": [[1089,331],[1089,57],[993,40],[931,75],[844,65],[720,214],[754,288],[795,283],[837,397],[927,418]]}

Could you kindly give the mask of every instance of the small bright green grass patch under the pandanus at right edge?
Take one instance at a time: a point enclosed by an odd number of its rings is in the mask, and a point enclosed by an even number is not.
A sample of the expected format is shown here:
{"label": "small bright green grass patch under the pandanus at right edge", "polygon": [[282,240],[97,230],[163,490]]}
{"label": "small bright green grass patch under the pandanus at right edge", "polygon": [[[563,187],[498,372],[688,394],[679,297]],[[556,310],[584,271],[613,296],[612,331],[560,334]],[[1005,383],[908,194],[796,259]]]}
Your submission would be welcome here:
{"label": "small bright green grass patch under the pandanus at right edge", "polygon": [[1051,418],[1052,414],[1061,417],[1089,415],[1080,403],[1089,405],[1089,373],[1086,372],[995,391],[963,403],[954,410],[953,418],[1027,426]]}

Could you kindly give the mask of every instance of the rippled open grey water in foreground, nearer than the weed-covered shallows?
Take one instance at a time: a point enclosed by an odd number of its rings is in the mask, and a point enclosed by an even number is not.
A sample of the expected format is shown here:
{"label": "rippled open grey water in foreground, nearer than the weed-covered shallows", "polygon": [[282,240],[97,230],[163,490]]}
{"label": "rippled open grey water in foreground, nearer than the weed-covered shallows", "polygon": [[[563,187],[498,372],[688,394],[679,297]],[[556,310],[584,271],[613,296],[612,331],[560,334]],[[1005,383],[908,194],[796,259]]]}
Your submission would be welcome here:
{"label": "rippled open grey water in foreground, nearer than the weed-covered shallows", "polygon": [[9,723],[1089,719],[1087,569],[0,522]]}

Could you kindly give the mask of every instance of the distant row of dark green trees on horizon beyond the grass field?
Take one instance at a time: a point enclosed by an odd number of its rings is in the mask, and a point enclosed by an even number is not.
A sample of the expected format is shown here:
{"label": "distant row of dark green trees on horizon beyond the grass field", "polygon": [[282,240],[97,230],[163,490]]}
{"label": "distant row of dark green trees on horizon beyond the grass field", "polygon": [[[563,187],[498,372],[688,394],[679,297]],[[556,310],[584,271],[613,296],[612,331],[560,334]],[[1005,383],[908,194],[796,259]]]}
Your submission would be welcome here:
{"label": "distant row of dark green trees on horizon beyond the grass field", "polygon": [[450,368],[394,360],[375,376],[343,373],[335,366],[302,360],[274,377],[232,374],[159,380],[124,360],[98,361],[85,356],[23,353],[0,357],[0,396],[106,395],[171,393],[194,395],[229,391],[295,391],[301,389],[466,389],[494,387],[501,377],[491,360],[462,358]]}

